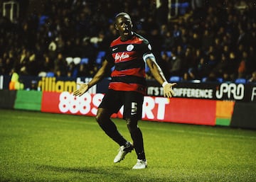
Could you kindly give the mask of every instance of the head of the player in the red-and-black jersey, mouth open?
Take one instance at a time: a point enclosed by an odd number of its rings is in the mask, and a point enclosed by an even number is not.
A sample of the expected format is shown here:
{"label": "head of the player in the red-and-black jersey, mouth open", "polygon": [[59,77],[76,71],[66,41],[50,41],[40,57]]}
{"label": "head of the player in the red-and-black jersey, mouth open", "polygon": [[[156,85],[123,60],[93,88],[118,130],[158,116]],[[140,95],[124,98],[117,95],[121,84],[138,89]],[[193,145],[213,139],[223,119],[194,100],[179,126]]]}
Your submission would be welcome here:
{"label": "head of the player in the red-and-black jersey, mouth open", "polygon": [[119,16],[116,20],[116,28],[122,40],[127,40],[132,35],[132,21],[129,16]]}

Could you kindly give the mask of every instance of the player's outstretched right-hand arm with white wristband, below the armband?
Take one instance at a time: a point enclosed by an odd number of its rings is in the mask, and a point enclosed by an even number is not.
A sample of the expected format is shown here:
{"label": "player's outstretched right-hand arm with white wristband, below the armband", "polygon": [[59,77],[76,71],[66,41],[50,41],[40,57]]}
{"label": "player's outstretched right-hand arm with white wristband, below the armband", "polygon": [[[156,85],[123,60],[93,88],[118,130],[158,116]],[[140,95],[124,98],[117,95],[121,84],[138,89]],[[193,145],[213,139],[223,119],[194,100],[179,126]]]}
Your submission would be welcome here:
{"label": "player's outstretched right-hand arm with white wristband, below the armband", "polygon": [[168,98],[174,96],[172,86],[176,85],[176,83],[168,83],[168,81],[166,81],[164,73],[159,67],[159,64],[156,63],[153,55],[146,57],[146,64],[149,66],[150,72],[154,76],[154,79],[156,79],[156,81],[158,81],[159,84],[164,87],[164,96]]}

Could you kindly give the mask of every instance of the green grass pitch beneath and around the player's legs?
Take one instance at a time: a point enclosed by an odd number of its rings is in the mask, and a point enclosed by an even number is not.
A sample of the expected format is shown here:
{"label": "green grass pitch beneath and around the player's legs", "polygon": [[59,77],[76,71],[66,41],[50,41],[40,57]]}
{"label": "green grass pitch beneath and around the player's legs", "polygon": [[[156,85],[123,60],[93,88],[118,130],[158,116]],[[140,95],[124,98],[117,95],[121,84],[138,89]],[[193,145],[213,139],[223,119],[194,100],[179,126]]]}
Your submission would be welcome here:
{"label": "green grass pitch beneath and around the player's legs", "polygon": [[[130,140],[124,120],[114,119]],[[149,167],[80,115],[0,110],[0,181],[256,181],[256,132],[139,122]]]}

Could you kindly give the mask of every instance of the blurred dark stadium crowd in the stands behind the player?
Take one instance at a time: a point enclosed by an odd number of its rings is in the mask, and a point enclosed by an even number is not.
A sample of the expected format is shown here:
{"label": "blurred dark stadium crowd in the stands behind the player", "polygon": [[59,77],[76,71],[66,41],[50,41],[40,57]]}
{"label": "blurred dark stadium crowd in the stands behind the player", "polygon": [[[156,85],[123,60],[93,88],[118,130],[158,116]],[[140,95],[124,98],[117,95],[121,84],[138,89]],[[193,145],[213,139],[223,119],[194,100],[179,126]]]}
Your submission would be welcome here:
{"label": "blurred dark stadium crowd in the stands behind the player", "polygon": [[[107,52],[117,38],[114,16],[126,11],[134,30],[151,42],[166,78],[255,81],[253,1],[202,0],[203,6],[189,6],[171,19],[164,0],[159,7],[149,0],[43,2],[40,9],[23,7],[22,16],[12,22],[0,17],[0,74],[93,76],[100,67],[96,60],[104,57],[99,52]],[[193,0],[186,2],[192,5]],[[67,57],[81,59],[68,62]]]}

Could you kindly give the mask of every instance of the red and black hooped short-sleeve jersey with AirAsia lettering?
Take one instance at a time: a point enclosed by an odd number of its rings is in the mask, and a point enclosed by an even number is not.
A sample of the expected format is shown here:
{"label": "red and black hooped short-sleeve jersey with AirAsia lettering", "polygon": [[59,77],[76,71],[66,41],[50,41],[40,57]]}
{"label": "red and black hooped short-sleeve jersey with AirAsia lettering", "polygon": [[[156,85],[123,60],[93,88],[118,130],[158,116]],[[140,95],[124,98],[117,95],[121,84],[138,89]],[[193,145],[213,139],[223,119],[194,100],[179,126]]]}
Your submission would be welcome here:
{"label": "red and black hooped short-sleeve jersey with AirAsia lettering", "polygon": [[109,89],[146,93],[145,62],[143,57],[151,54],[149,41],[137,33],[122,41],[117,38],[110,44],[107,61],[114,65]]}

